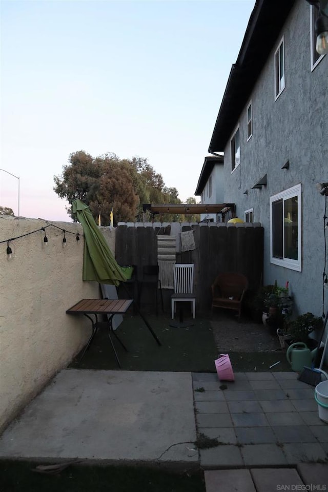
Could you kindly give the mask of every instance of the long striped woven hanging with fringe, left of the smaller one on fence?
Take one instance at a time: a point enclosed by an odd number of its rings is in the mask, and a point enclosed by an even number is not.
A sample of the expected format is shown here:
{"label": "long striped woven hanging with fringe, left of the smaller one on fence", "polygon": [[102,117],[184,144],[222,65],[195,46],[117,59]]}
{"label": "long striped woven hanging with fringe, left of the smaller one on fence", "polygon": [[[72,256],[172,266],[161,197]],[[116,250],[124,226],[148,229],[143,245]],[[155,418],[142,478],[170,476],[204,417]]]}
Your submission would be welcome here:
{"label": "long striped woven hanging with fringe, left of the smaller one on fence", "polygon": [[175,236],[157,236],[158,278],[162,289],[174,289],[173,267],[176,262]]}

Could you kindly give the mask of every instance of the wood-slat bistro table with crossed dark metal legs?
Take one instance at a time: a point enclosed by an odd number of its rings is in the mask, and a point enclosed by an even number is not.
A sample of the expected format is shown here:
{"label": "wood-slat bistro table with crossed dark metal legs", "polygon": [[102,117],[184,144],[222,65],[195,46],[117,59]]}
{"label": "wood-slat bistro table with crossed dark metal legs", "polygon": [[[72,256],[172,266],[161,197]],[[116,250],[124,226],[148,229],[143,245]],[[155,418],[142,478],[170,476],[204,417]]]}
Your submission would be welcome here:
{"label": "wood-slat bistro table with crossed dark metal legs", "polygon": [[[115,346],[111,337],[111,334],[115,336],[115,338],[119,341],[121,346],[124,348],[126,352],[128,352],[128,349],[124,345],[124,343],[118,338],[116,335],[115,331],[113,330],[113,316],[115,314],[124,314],[127,312],[129,309],[130,305],[132,304],[133,299],[81,299],[78,301],[74,306],[72,306],[70,309],[66,311],[67,314],[84,314],[87,318],[90,319],[92,323],[92,333],[91,336],[88,340],[88,343],[83,351],[83,354],[80,357],[79,363],[83,359],[85,353],[87,352],[88,348],[90,348],[90,345],[92,343],[92,340],[94,339],[98,329],[101,326],[105,326],[108,329],[108,337],[111,342],[115,358],[117,361],[118,366],[120,367],[121,364],[119,362],[119,358],[117,355],[117,352],[115,350]],[[90,315],[94,315],[95,319],[93,319]],[[107,321],[98,321],[98,315],[107,315]]]}

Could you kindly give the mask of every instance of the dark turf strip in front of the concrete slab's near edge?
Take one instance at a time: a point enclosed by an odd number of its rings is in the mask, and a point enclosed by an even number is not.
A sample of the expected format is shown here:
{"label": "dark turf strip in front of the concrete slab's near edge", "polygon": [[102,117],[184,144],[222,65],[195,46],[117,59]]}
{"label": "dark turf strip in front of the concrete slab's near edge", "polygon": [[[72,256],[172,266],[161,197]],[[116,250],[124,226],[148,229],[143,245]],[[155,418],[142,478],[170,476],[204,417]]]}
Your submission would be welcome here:
{"label": "dark turf strip in front of the concrete slab's near edge", "polygon": [[1,492],[205,492],[200,470],[75,464],[45,475],[32,471],[39,464],[0,460]]}

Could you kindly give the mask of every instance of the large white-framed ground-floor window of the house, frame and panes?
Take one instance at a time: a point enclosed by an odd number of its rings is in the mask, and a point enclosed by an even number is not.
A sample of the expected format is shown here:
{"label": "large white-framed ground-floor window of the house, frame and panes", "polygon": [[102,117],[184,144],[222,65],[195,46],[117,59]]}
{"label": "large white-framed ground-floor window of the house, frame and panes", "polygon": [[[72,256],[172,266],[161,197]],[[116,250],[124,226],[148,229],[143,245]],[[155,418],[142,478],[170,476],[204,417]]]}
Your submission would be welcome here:
{"label": "large white-framed ground-floor window of the house, frame and panes", "polygon": [[270,197],[271,263],[300,272],[301,185]]}

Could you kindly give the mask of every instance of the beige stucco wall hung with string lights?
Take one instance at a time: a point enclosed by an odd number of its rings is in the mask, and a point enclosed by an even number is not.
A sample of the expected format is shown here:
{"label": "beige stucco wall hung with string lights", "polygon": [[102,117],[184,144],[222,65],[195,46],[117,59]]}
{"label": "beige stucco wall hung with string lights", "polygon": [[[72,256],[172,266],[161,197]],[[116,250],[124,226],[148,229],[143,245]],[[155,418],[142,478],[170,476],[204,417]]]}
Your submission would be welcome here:
{"label": "beige stucco wall hung with string lights", "polygon": [[[51,222],[83,234],[80,224]],[[47,226],[41,219],[0,216],[0,241]],[[112,251],[115,230],[100,228]],[[67,315],[81,298],[99,296],[99,284],[82,280],[84,239],[53,226],[0,244],[0,431],[61,368],[90,335],[90,321]]]}

